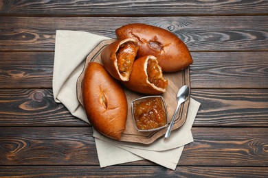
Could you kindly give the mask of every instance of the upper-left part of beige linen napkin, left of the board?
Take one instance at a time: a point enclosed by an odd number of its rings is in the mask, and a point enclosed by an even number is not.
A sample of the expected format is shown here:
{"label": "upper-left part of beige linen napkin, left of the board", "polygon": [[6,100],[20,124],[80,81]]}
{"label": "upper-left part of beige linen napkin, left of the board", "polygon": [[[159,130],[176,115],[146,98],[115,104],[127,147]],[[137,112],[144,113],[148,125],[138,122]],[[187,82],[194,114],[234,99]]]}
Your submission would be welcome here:
{"label": "upper-left part of beige linen napkin, left of the board", "polygon": [[85,58],[104,36],[85,31],[57,30],[55,40],[53,94],[57,103],[63,103],[72,115],[89,123],[76,94],[76,81],[82,72]]}

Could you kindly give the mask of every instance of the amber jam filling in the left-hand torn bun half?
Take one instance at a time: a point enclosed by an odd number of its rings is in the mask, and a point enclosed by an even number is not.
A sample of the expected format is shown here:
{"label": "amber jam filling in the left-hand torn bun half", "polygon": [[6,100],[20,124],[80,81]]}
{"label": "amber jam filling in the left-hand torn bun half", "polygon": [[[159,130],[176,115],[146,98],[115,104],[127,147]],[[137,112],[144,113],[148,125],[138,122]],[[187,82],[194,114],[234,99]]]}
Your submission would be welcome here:
{"label": "amber jam filling in the left-hand torn bun half", "polygon": [[137,45],[133,42],[125,42],[120,45],[116,53],[116,58],[118,59],[118,70],[123,77],[129,75],[132,71],[137,49]]}

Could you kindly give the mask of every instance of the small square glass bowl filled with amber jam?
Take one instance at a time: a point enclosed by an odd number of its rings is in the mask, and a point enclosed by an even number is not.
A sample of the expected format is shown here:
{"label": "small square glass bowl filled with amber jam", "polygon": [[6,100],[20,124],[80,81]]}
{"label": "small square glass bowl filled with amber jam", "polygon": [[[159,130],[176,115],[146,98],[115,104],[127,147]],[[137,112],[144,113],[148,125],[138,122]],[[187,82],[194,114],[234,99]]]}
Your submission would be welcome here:
{"label": "small square glass bowl filled with amber jam", "polygon": [[168,126],[168,113],[163,97],[148,96],[135,99],[131,107],[137,131],[156,131]]}

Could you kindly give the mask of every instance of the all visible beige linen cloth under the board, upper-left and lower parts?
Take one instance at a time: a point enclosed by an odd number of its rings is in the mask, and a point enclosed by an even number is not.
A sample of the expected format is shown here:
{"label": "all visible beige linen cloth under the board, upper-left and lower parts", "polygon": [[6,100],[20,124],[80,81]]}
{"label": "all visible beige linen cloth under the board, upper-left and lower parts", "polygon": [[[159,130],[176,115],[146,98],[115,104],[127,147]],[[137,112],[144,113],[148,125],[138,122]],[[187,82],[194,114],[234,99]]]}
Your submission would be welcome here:
{"label": "all visible beige linen cloth under the board, upper-left and lower parts", "polygon": [[[85,110],[77,99],[76,82],[82,73],[87,55],[109,38],[85,31],[56,31],[53,92],[54,100],[63,103],[69,112],[89,123]],[[186,123],[172,131],[169,140],[160,138],[150,145],[111,140],[93,129],[100,167],[150,160],[175,170],[185,144],[193,142],[190,131],[200,103],[190,99]],[[90,124],[90,123],[89,123]]]}

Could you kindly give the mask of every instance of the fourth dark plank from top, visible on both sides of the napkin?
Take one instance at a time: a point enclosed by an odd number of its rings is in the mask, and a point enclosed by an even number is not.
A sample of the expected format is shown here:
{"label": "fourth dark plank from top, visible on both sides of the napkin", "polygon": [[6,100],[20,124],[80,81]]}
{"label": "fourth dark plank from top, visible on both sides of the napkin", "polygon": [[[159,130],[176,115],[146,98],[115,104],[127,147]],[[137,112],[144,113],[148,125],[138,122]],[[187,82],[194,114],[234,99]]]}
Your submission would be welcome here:
{"label": "fourth dark plank from top, visible on both sides of the napkin", "polygon": [[[268,127],[268,90],[197,90],[197,127]],[[55,103],[51,89],[1,89],[0,126],[87,126]]]}

